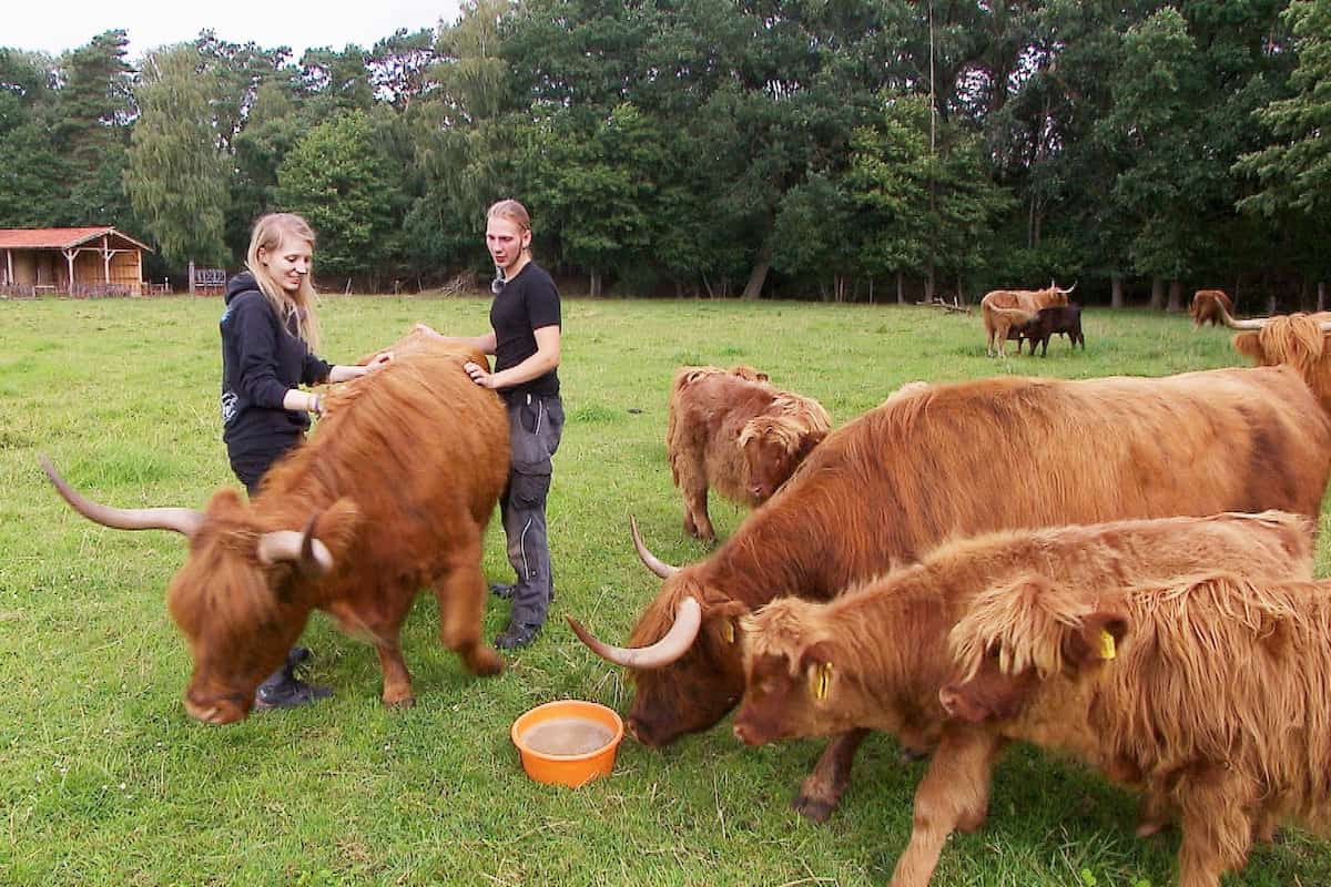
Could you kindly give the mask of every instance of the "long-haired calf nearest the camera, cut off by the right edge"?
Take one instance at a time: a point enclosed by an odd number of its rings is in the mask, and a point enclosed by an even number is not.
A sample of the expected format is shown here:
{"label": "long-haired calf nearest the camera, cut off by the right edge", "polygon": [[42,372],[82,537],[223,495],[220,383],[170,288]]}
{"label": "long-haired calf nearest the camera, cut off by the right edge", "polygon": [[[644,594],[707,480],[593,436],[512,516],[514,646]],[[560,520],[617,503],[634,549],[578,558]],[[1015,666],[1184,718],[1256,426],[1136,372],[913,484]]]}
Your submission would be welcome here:
{"label": "long-haired calf nearest the camera, cut off by the right edge", "polygon": [[[952,645],[940,699],[993,745],[1070,751],[1173,809],[1181,887],[1219,887],[1282,819],[1331,827],[1331,581],[1034,577],[978,597]],[[958,762],[953,791],[988,782]]]}

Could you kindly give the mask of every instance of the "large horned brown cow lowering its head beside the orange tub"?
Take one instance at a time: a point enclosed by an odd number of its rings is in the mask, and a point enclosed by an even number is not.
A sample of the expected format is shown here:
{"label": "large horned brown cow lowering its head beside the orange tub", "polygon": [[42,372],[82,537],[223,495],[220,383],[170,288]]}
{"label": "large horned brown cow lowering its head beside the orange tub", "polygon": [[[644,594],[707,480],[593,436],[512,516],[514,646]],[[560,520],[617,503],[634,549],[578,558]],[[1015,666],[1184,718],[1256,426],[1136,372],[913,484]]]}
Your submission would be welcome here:
{"label": "large horned brown cow lowering its head beside the orange tub", "polygon": [[[707,560],[676,570],[640,547],[667,577],[630,636],[642,649],[574,630],[632,670],[627,726],[662,746],[735,705],[735,620],[773,598],[828,600],[994,529],[1267,508],[1312,517],[1328,472],[1331,420],[1283,367],[932,384],[828,435]],[[801,810],[836,806],[862,735],[829,746]]]}

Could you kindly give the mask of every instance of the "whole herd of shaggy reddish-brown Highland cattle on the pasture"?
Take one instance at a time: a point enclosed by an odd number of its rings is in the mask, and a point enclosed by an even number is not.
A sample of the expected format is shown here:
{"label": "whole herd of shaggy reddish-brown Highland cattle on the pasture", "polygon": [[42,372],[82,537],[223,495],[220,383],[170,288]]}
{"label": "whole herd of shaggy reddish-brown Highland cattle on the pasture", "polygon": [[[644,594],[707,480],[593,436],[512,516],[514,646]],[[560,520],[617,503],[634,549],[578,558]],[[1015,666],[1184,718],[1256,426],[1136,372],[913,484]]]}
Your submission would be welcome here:
{"label": "whole herd of shaggy reddish-brown Highland cattle on the pasture", "polygon": [[[1067,293],[986,297],[989,347]],[[829,737],[795,801],[816,821],[870,730],[929,754],[893,887],[928,884],[946,836],[982,824],[1012,739],[1138,789],[1139,834],[1181,828],[1182,887],[1218,887],[1280,821],[1331,824],[1331,581],[1311,556],[1331,315],[1231,311],[1219,291],[1193,305],[1198,324],[1239,328],[1256,367],[910,383],[836,430],[752,368],[683,367],[667,449],[684,529],[715,537],[709,488],[753,511],[683,568],[634,527],[664,581],[627,646],[570,617],[630,669],[631,734],[664,746],[737,706],[741,742]],[[422,586],[443,642],[500,670],[480,641],[480,552],[503,408],[461,371],[479,355],[398,354],[330,395],[321,432],[249,503],[109,508],[44,464],[85,517],[189,539],[168,600],[194,661],[190,715],[244,718],[313,609],[370,640],[383,701],[410,703],[398,633]]]}

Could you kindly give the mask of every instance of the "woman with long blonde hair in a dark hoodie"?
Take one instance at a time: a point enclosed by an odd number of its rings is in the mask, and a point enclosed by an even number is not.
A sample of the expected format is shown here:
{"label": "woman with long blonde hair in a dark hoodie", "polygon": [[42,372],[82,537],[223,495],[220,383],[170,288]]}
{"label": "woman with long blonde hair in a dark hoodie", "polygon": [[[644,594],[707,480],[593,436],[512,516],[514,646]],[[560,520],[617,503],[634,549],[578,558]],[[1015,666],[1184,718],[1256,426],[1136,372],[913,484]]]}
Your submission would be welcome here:
{"label": "woman with long blonde hair in a dark hoodie", "polygon": [[[346,382],[367,367],[333,366],[318,358],[314,315],[314,231],[299,215],[273,213],[254,222],[246,269],[226,285],[222,311],[222,440],[232,471],[253,496],[268,469],[305,438],[322,398],[301,386]],[[286,666],[260,685],[257,707],[290,707],[330,694],[297,681],[291,669],[309,656],[295,648]]]}

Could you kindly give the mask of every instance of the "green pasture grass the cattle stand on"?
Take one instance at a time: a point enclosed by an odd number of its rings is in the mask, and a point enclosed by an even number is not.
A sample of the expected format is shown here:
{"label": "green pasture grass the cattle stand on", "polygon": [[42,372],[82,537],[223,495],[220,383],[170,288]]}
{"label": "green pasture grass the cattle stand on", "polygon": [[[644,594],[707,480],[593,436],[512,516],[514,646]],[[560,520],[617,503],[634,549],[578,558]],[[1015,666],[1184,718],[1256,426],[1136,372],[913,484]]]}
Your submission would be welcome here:
{"label": "green pasture grass the cattle stand on", "polygon": [[[751,363],[844,422],[912,379],[1086,378],[1233,366],[1221,331],[1090,310],[1087,350],[984,356],[978,315],[735,302],[564,305],[568,424],[550,504],[559,598],[498,678],[467,676],[422,597],[403,646],[417,707],[378,703],[374,652],[317,616],[313,677],[337,696],[228,727],[181,706],[188,652],[162,604],[185,556],[172,533],[96,527],[37,468],[117,505],[202,507],[234,484],[220,440],[217,299],[0,302],[0,883],[4,884],[881,884],[910,828],[924,765],[874,737],[825,826],[789,807],[819,742],[745,749],[728,722],[664,751],[632,741],[579,791],[523,775],[508,725],[582,697],[626,710],[631,688],[567,630],[619,638],[658,588],[628,544],[638,515],[672,563],[681,532],[666,465],[679,363]],[[329,298],[325,356],[347,362],[415,320],[486,328],[479,299]],[[728,535],[743,513],[713,504]],[[508,576],[502,532],[487,573]],[[1319,543],[1328,574],[1328,543]],[[486,632],[503,628],[492,602]],[[944,851],[934,884],[1161,887],[1177,835],[1133,838],[1135,801],[1030,750],[997,773],[992,815]],[[1331,847],[1284,831],[1230,884],[1331,883]]]}

